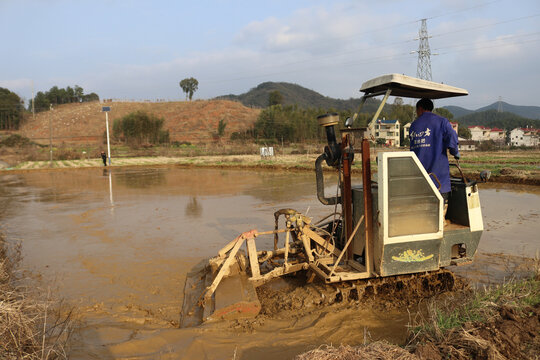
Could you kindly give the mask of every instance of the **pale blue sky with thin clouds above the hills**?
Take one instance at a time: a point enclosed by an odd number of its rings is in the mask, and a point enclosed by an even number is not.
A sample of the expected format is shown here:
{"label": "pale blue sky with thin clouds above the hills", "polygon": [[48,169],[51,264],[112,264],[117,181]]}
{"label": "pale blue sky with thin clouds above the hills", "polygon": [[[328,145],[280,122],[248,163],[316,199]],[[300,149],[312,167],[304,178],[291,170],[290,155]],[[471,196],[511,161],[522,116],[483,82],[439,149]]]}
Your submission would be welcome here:
{"label": "pale blue sky with thin clouds above the hills", "polygon": [[538,0],[0,0],[0,86],[181,100],[195,77],[194,99],[265,81],[359,97],[373,77],[416,75],[422,18],[433,81],[470,93],[436,106],[540,106]]}

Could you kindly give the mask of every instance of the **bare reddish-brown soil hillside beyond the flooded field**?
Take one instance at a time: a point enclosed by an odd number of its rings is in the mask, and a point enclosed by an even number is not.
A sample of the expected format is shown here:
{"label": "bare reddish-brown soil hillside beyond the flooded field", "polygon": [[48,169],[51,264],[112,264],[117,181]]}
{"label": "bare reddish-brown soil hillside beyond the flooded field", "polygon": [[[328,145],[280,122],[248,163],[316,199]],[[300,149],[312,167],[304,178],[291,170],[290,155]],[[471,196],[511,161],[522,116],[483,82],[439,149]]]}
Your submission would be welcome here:
{"label": "bare reddish-brown soil hillside beyond the flooded field", "polygon": [[221,119],[227,122],[225,138],[233,132],[247,130],[260,112],[227,100],[65,104],[53,111],[38,113],[35,118],[30,116],[21,128],[21,135],[48,143],[50,119],[55,144],[99,141],[105,131],[105,114],[101,112],[103,105],[111,106],[110,130],[114,119],[142,110],[165,119],[164,127],[169,130],[171,141],[190,143],[212,140]]}

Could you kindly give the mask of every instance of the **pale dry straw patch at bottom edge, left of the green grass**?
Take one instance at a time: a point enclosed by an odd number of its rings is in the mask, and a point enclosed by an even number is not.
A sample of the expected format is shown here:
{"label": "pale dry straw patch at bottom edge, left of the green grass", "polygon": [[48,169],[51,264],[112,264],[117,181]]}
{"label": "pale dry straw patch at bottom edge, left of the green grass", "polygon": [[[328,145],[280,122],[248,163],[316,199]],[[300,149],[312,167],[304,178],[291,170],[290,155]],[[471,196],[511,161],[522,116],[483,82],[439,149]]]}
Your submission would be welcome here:
{"label": "pale dry straw patch at bottom edge, left of the green grass", "polygon": [[399,346],[384,341],[368,345],[333,347],[323,345],[295,357],[295,360],[417,360],[418,357]]}

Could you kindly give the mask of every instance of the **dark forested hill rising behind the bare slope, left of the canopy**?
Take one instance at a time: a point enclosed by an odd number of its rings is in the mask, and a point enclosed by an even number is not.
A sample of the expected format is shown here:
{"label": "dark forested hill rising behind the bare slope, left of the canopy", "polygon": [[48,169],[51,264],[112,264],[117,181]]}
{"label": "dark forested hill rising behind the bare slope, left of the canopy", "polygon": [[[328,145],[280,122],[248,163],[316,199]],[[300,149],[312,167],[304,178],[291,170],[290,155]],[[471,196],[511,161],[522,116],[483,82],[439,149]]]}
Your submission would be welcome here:
{"label": "dark forested hill rising behind the bare slope, left of the canopy", "polygon": [[[283,105],[297,105],[304,109],[321,108],[357,111],[360,105],[360,98],[333,99],[300,85],[286,82],[265,82],[244,94],[224,95],[216,99],[234,100],[241,102],[245,106],[265,108],[269,104],[270,94],[274,91],[281,94]],[[364,105],[362,112],[375,112],[379,103],[379,100],[370,99]]]}

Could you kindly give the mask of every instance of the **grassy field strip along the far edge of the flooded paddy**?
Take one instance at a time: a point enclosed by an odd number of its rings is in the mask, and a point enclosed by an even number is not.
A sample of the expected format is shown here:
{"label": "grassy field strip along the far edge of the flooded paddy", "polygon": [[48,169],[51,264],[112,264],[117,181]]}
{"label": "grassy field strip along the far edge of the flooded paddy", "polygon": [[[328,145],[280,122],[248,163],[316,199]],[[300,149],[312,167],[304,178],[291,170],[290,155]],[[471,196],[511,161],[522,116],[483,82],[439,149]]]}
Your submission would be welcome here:
{"label": "grassy field strip along the far edge of the flooded paddy", "polygon": [[[322,146],[320,146],[322,149]],[[220,167],[220,168],[253,168],[253,169],[278,169],[278,170],[306,170],[312,171],[315,159],[319,155],[317,146],[276,149],[279,155],[262,158],[254,154],[258,151],[255,144],[242,146],[201,146],[190,145],[182,147],[156,147],[151,149],[130,150],[118,147],[113,151],[113,166],[197,166],[197,167]],[[45,149],[48,150],[48,149]],[[387,149],[372,149],[371,167],[377,171],[376,153]],[[0,152],[2,150],[0,149]],[[84,168],[103,166],[101,159],[95,154],[96,150],[82,154],[80,151],[62,148],[58,150],[60,159],[53,158],[50,162],[42,150],[41,156],[32,155],[18,157],[9,164],[11,170],[30,169],[57,169],[57,168]],[[29,153],[31,151],[29,150]],[[116,155],[118,154],[118,155]],[[116,156],[115,156],[116,155]],[[26,159],[31,159],[30,161]],[[26,161],[25,161],[26,160]],[[482,170],[491,172],[491,182],[519,183],[527,185],[540,185],[540,151],[512,151],[512,152],[485,152],[465,153],[460,161],[465,176],[469,179],[479,180]],[[8,166],[4,166],[8,168]],[[1,166],[0,166],[1,168]],[[455,176],[459,176],[457,170],[452,167]],[[361,172],[361,164],[357,161],[352,166],[353,173]]]}

